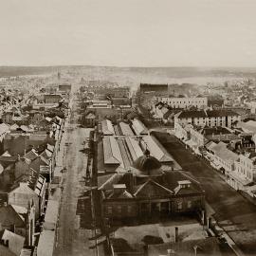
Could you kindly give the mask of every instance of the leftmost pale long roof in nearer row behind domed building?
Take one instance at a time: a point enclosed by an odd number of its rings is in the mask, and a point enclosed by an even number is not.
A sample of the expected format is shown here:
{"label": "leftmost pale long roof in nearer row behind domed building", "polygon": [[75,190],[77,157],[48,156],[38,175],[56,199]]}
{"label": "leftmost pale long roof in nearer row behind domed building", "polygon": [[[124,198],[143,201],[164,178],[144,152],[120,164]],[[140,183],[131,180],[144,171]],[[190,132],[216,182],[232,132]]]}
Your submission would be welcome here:
{"label": "leftmost pale long roof in nearer row behind domed building", "polygon": [[103,137],[104,164],[118,164],[123,166],[119,150],[119,143],[115,137]]}

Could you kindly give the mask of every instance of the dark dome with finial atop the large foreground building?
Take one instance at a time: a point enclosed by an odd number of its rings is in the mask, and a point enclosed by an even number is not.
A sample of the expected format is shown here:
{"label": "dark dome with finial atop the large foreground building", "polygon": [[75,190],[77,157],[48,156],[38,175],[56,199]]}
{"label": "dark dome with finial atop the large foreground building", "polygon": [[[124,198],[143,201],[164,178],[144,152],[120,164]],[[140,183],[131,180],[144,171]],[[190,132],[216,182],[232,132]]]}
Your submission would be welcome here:
{"label": "dark dome with finial atop the large foreground building", "polygon": [[161,163],[153,156],[150,155],[149,150],[144,152],[144,155],[141,155],[135,160],[133,167],[137,169],[137,174],[143,175],[160,175]]}

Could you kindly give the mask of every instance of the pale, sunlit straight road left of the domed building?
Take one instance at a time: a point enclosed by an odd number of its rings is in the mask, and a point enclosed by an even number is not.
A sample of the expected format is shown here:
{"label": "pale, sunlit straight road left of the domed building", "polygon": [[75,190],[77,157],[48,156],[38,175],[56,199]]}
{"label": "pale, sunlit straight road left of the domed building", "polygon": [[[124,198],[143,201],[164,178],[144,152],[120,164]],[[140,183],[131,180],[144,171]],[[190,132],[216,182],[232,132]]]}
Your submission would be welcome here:
{"label": "pale, sunlit straight road left of the domed building", "polygon": [[[84,190],[84,179],[87,158],[81,152],[85,137],[89,130],[79,128],[76,114],[77,103],[74,102],[71,111],[71,121],[66,127],[66,146],[64,165],[67,172],[64,174],[64,190],[61,201],[55,256],[95,255],[90,249],[88,240],[92,236],[90,229],[81,228],[80,215],[77,215],[78,198]],[[67,144],[66,143],[66,144]]]}

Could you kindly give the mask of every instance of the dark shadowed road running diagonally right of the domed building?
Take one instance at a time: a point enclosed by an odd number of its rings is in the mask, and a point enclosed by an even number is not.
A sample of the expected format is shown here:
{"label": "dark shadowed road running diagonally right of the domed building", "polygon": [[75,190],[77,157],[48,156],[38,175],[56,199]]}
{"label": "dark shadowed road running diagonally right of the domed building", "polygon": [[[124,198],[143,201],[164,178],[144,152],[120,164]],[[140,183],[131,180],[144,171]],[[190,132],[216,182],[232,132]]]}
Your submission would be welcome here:
{"label": "dark shadowed road running diagonally right of the domed building", "polygon": [[170,135],[158,139],[184,171],[192,173],[206,191],[206,199],[215,211],[214,218],[227,231],[235,244],[246,254],[256,255],[256,207],[213,171],[202,159]]}

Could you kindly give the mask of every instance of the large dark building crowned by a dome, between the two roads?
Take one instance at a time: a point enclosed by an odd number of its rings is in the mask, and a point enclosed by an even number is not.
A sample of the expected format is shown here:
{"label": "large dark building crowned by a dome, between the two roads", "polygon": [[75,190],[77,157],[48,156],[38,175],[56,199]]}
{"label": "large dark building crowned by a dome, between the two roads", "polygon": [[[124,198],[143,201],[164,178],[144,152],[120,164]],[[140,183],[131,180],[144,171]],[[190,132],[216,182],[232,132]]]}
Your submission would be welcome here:
{"label": "large dark building crowned by a dome, between the two roads", "polygon": [[163,171],[148,150],[129,172],[113,174],[98,186],[102,215],[111,220],[195,212],[205,207],[199,182],[182,171]]}

